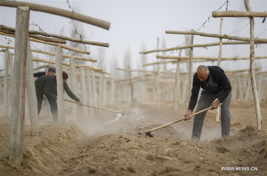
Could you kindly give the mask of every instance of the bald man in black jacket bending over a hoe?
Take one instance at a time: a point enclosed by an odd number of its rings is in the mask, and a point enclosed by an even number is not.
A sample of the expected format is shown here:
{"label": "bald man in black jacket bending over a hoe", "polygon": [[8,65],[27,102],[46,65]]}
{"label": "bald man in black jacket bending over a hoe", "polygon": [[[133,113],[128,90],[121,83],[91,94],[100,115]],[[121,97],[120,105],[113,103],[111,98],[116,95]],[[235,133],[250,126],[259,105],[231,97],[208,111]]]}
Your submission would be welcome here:
{"label": "bald man in black jacket bending over a hoe", "polygon": [[[193,76],[193,88],[191,91],[190,102],[188,105],[186,119],[191,119],[193,109],[196,106],[198,100],[199,89],[203,88],[198,101],[197,111],[201,111],[205,108],[212,106],[211,110],[217,109],[219,104],[221,105],[221,130],[222,136],[229,135],[230,133],[230,103],[232,96],[232,87],[230,79],[227,78],[224,71],[218,66],[205,66],[199,65],[197,72]],[[214,100],[218,98],[214,102]],[[214,103],[213,103],[214,102]],[[204,118],[206,112],[200,113],[194,117],[193,131],[191,139],[199,142],[201,131],[203,127]]]}

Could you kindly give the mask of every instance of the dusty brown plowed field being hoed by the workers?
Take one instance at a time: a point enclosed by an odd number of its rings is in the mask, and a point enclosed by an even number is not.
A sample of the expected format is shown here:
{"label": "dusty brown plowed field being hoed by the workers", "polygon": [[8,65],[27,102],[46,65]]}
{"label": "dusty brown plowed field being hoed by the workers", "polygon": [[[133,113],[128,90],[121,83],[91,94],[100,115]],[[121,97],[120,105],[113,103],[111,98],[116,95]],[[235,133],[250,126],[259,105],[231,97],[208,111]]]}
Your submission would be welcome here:
{"label": "dusty brown plowed field being hoed by the workers", "polygon": [[[96,111],[95,118],[83,116],[76,124],[67,116],[64,125],[51,123],[42,110],[41,134],[31,137],[25,128],[21,166],[7,159],[10,123],[1,120],[1,175],[267,175],[266,104],[261,105],[263,130],[255,128],[253,104],[231,105],[231,135],[223,138],[210,111],[200,144],[190,140],[192,120],[154,131],[153,138],[143,134],[182,118],[186,106],[177,112],[168,103],[124,106],[122,118]],[[258,171],[222,171],[228,166]]]}

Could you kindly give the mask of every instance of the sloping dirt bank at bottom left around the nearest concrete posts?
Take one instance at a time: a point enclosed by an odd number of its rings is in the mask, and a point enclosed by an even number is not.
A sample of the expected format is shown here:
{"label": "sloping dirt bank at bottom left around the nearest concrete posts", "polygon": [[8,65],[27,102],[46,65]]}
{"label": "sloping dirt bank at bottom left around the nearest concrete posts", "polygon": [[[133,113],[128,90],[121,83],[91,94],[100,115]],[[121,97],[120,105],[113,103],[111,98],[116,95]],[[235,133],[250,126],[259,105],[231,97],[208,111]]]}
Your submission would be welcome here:
{"label": "sloping dirt bank at bottom left around the nearest concrete posts", "polygon": [[8,160],[9,129],[9,124],[1,124],[1,175],[62,175],[69,167],[67,160],[80,154],[77,149],[85,140],[74,124],[41,127],[38,137],[31,137],[26,127],[23,161],[18,166]]}

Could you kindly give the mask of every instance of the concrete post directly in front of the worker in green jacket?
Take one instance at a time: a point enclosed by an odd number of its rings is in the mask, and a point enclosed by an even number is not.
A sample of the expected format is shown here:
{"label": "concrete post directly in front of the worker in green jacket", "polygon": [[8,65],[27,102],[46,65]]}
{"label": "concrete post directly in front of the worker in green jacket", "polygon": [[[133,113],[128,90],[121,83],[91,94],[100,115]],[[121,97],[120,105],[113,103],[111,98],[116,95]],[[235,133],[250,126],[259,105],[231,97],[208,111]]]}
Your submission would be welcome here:
{"label": "concrete post directly in front of the worker in green jacket", "polygon": [[57,92],[58,92],[58,120],[64,123],[64,96],[63,96],[63,75],[62,75],[62,51],[61,47],[55,47],[55,63],[57,73]]}

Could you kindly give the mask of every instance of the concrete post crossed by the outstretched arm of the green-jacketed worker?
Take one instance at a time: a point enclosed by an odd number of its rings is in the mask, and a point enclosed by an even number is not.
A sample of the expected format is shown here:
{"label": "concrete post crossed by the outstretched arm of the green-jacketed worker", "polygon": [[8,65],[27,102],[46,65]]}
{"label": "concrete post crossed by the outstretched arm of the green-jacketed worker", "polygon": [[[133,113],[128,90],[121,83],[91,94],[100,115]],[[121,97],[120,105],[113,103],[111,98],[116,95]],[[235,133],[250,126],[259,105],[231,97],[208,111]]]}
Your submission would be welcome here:
{"label": "concrete post crossed by the outstretched arm of the green-jacketed worker", "polygon": [[[71,91],[77,95],[77,92],[76,92],[76,76],[75,76],[75,61],[74,61],[74,58],[71,57],[70,60],[69,60],[69,64],[70,64],[70,77],[71,77]],[[76,116],[77,116],[77,105],[75,103],[71,103],[71,116],[72,116],[72,119],[76,120]]]}

